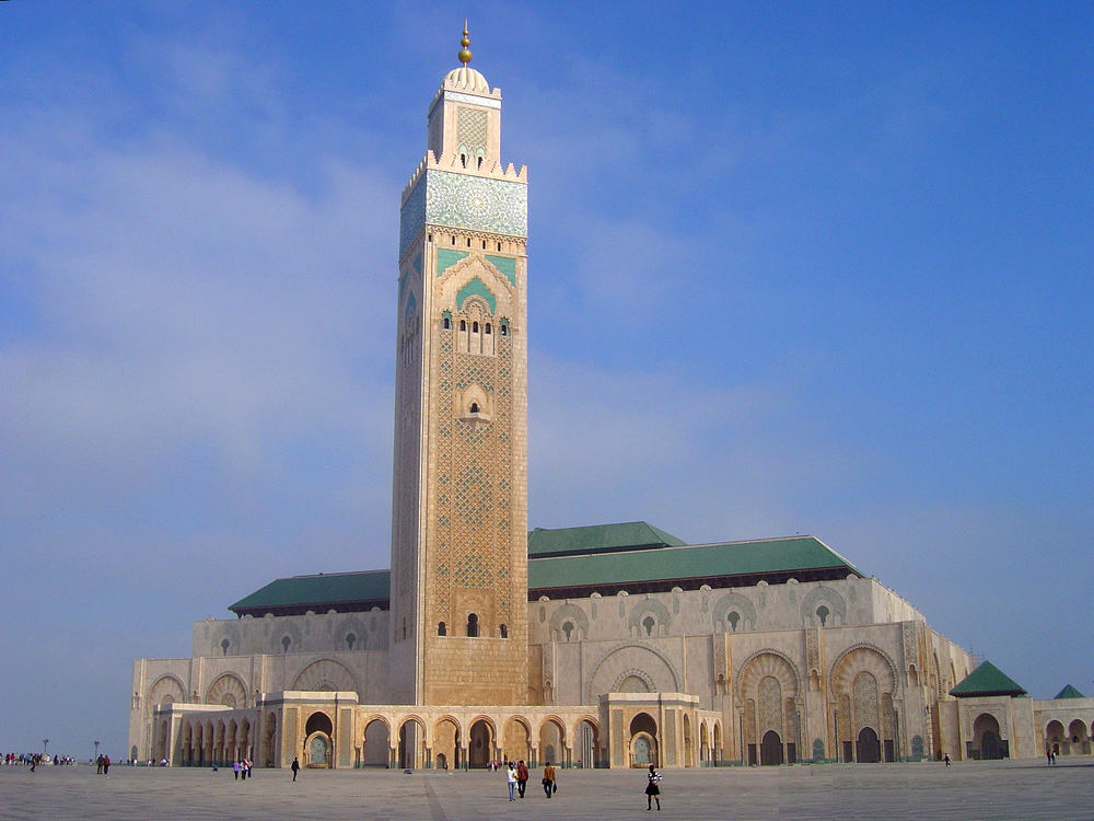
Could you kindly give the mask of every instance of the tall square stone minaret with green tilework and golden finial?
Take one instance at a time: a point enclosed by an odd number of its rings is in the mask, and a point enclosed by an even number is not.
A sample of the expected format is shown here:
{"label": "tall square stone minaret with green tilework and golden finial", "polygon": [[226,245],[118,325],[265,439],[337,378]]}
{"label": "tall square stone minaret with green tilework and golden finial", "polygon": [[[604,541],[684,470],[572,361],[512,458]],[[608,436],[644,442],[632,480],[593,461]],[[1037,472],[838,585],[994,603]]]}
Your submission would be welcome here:
{"label": "tall square stone minaret with green tilework and golden finial", "polygon": [[429,107],[403,193],[392,513],[392,693],[527,699],[527,172],[501,92],[467,63]]}

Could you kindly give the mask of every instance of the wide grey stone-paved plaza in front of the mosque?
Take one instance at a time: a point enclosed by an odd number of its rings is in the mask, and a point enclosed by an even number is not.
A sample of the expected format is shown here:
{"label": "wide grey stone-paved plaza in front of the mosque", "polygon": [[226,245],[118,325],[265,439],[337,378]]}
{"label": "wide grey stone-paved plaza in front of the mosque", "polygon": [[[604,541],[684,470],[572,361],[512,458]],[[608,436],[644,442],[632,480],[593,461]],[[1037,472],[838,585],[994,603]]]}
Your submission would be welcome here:
{"label": "wide grey stone-paved plaza in front of the mosque", "polygon": [[[1094,759],[1055,767],[1036,761],[828,764],[663,771],[659,818],[1094,820]],[[398,771],[0,767],[0,819],[622,819],[650,818],[642,771],[559,772],[550,800],[533,772],[527,798],[509,801],[505,775]]]}

